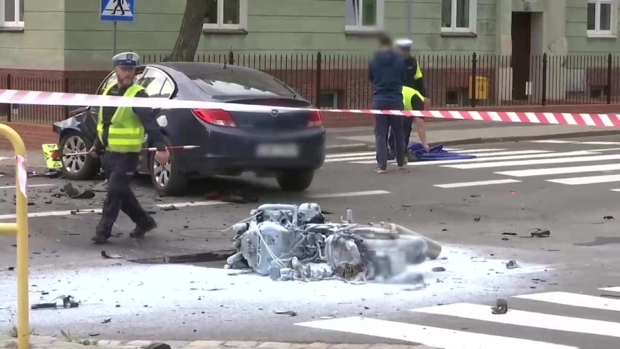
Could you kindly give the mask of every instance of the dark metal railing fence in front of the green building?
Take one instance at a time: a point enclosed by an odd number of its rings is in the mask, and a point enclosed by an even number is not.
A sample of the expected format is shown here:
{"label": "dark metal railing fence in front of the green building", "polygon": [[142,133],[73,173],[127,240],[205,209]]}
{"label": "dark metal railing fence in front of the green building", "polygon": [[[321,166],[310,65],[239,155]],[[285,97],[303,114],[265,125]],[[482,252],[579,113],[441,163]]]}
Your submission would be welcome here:
{"label": "dark metal railing fence in front of the green building", "polygon": [[[195,61],[239,65],[265,71],[316,106],[368,109],[372,87],[367,55],[199,54]],[[144,63],[175,61],[144,55]],[[420,55],[427,97],[435,108],[516,105],[612,104],[620,102],[620,56]],[[89,76],[0,75],[0,88],[95,93],[107,71]],[[475,93],[473,93],[475,91]],[[67,107],[0,106],[0,120],[50,123]]]}

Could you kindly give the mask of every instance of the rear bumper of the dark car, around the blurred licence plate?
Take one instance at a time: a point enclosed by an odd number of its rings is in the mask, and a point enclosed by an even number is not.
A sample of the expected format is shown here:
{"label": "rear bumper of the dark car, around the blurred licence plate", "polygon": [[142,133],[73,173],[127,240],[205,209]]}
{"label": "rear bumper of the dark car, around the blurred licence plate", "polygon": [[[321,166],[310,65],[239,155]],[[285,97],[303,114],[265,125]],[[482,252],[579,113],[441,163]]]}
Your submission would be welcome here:
{"label": "rear bumper of the dark car, around the blurred licence plate", "polygon": [[209,125],[202,137],[191,134],[183,143],[201,145],[201,148],[179,152],[180,166],[185,173],[314,170],[325,160],[324,127],[249,132]]}

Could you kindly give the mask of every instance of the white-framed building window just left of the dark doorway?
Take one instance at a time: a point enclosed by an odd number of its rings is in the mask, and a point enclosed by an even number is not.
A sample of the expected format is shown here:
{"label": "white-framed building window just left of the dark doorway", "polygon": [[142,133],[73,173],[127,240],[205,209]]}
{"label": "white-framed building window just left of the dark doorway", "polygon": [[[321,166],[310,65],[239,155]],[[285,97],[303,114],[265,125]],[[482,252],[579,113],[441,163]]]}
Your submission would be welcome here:
{"label": "white-framed building window just left of the dark doorway", "polygon": [[476,33],[477,0],[441,0],[441,32]]}

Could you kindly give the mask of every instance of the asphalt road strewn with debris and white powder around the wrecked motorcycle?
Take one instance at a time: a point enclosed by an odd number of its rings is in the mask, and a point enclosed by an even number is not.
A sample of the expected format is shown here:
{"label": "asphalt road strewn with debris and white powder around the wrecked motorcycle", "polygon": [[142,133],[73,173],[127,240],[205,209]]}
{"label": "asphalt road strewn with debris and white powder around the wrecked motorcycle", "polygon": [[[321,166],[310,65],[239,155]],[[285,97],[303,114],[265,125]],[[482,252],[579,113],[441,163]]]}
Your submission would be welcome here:
{"label": "asphalt road strewn with debris and white powder around the wrecked motorcycle", "polygon": [[[136,193],[156,212],[159,228],[133,241],[128,238],[133,226],[121,215],[115,231],[120,236],[103,247],[122,253],[118,260],[102,258],[102,247],[91,244],[98,214],[63,212],[100,208],[104,193],[89,200],[59,198],[53,194],[66,181],[32,178],[29,184],[50,186],[29,188],[30,212],[43,212],[30,219],[31,301],[71,294],[82,302],[77,309],[33,310],[32,326],[42,335],[68,329],[77,337],[99,333],[120,340],[618,347],[620,289],[601,288],[620,286],[620,193],[612,190],[620,188],[620,138],[562,142],[572,143],[467,145],[460,152],[478,158],[412,163],[408,171],[391,165],[394,171],[387,174],[363,163],[372,162],[372,155],[330,155],[304,194],[282,193],[275,181],[248,176],[197,181],[192,195],[157,197],[138,178]],[[7,173],[0,187],[13,185],[11,170],[0,171]],[[183,265],[131,261],[231,249],[232,233],[222,230],[258,204],[205,202],[204,194],[214,189],[241,191],[260,203],[317,202],[333,212],[327,216],[333,220],[348,208],[358,222],[396,222],[441,242],[447,259],[417,266],[423,285],[274,282],[222,270],[221,255]],[[4,222],[14,213],[12,190],[0,189]],[[160,207],[175,202],[178,211]],[[192,202],[195,206],[184,206]],[[608,216],[616,219],[604,219]],[[531,238],[537,228],[551,235]],[[13,237],[0,237],[0,270],[15,266],[14,243]],[[521,267],[507,269],[503,263],[509,260]],[[438,265],[446,271],[431,271]],[[15,271],[0,271],[0,309],[15,306],[14,278]],[[538,301],[525,299],[531,294],[539,294]],[[500,297],[511,310],[491,315]],[[3,312],[0,328],[9,326]],[[102,324],[106,319],[112,320]]]}

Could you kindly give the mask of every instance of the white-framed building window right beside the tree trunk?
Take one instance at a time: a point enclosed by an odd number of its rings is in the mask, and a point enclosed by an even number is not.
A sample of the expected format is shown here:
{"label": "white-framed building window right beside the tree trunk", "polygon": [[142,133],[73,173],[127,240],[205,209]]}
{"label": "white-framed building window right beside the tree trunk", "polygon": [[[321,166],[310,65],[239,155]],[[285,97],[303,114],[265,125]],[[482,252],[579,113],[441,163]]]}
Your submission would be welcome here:
{"label": "white-framed building window right beside the tree trunk", "polygon": [[246,29],[247,0],[206,0],[203,29]]}

